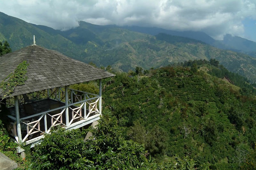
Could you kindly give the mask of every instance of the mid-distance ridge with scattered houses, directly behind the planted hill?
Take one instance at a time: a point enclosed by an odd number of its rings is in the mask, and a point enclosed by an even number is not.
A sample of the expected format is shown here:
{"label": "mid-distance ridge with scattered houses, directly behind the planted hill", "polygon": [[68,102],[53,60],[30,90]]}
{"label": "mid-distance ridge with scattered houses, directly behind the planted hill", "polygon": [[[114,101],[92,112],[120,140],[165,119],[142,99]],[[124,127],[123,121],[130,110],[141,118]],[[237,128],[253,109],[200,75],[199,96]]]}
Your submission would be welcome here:
{"label": "mid-distance ridge with scattered houses, directly behind the planted hill", "polygon": [[221,50],[201,41],[183,37],[158,34],[124,42],[115,47],[94,48],[88,52],[86,62],[96,65],[112,65],[116,70],[128,71],[135,67],[149,69],[188,60],[210,60],[214,58],[232,72],[244,75],[255,82],[256,60],[251,56],[228,50]]}

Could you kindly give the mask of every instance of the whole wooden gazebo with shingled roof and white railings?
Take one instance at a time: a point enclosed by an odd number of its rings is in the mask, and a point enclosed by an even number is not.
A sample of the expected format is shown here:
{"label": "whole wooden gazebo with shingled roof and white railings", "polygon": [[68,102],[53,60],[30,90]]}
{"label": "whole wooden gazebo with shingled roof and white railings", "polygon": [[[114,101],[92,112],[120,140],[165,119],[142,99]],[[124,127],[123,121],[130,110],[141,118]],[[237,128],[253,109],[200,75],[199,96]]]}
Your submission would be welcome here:
{"label": "whole wooden gazebo with shingled roof and white railings", "polygon": [[[101,79],[107,71],[35,44],[0,57],[0,82],[23,61],[27,80],[7,97],[8,131],[20,145],[40,142],[52,126],[76,129],[100,119]],[[99,94],[69,89],[69,85],[99,80]],[[0,96],[4,96],[0,89]]]}

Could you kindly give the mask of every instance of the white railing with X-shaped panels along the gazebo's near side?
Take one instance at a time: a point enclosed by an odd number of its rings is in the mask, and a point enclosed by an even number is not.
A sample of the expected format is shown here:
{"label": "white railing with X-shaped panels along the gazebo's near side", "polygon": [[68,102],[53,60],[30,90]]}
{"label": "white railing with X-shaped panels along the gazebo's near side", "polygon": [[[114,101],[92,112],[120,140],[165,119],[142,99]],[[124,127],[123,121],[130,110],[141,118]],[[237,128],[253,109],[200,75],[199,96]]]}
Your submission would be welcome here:
{"label": "white railing with X-shaped panels along the gazebo's near side", "polygon": [[[45,133],[49,133],[52,126],[61,125],[62,127],[69,127],[73,123],[77,122],[75,120],[86,120],[92,114],[99,114],[99,108],[97,104],[99,102],[99,99],[100,97],[96,96],[93,98],[86,98],[85,100],[78,101],[76,103],[68,104],[69,109],[72,110],[68,113],[69,115],[71,115],[71,120],[69,120],[68,124],[66,124],[65,120],[63,120],[66,114],[66,106],[20,118],[22,143],[24,143],[25,141],[28,142],[35,136],[42,136]],[[77,105],[80,106],[77,107]],[[53,114],[53,112],[56,112],[56,110],[60,110],[60,112]],[[9,117],[15,121],[14,123],[11,123],[12,135],[17,140],[17,142],[19,142],[17,137],[16,118],[12,116]],[[49,122],[51,122],[51,124],[49,124]],[[35,136],[33,137],[33,135]]]}

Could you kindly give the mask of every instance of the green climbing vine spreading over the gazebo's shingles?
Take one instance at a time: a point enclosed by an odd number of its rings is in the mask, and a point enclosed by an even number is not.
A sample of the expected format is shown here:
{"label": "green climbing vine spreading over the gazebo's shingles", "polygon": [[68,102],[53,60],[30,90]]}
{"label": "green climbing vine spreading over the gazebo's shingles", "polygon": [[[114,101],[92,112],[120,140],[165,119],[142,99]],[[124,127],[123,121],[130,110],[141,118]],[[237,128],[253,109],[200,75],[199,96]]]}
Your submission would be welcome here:
{"label": "green climbing vine spreading over the gazebo's shingles", "polygon": [[28,65],[29,63],[27,63],[27,61],[23,61],[17,66],[13,73],[9,74],[0,83],[0,88],[5,92],[2,99],[10,96],[14,92],[15,87],[25,84],[25,81],[28,79],[26,76]]}

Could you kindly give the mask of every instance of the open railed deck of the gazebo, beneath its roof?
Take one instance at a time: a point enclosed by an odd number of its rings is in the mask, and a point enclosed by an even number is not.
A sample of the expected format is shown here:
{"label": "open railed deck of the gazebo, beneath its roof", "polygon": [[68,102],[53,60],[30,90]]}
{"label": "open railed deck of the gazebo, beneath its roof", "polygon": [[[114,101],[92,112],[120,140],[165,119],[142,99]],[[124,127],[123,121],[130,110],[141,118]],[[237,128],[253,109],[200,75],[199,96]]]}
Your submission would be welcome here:
{"label": "open railed deck of the gazebo, beneath its roof", "polygon": [[50,132],[52,126],[76,129],[100,119],[101,93],[95,95],[74,89],[66,90],[60,87],[26,94],[28,97],[19,95],[16,97],[18,108],[14,107],[15,98],[8,98],[8,131],[13,139],[19,144],[31,144],[33,147],[42,140],[44,134]]}

